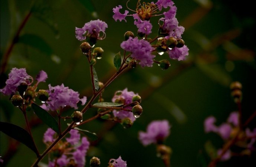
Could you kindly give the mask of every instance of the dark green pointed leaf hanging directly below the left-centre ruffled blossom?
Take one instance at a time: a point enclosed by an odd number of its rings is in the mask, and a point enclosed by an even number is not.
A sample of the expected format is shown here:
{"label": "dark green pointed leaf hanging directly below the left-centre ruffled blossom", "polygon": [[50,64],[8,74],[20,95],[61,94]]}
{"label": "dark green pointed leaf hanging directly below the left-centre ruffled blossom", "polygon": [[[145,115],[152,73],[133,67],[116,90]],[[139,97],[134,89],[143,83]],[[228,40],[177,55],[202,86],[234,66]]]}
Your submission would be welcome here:
{"label": "dark green pointed leaf hanging directly below the left-centre ruffled blossom", "polygon": [[50,113],[48,113],[46,110],[42,109],[40,106],[36,105],[35,103],[32,103],[32,109],[36,113],[36,115],[50,128],[52,128],[56,133],[59,132],[59,125],[57,121],[54,119]]}

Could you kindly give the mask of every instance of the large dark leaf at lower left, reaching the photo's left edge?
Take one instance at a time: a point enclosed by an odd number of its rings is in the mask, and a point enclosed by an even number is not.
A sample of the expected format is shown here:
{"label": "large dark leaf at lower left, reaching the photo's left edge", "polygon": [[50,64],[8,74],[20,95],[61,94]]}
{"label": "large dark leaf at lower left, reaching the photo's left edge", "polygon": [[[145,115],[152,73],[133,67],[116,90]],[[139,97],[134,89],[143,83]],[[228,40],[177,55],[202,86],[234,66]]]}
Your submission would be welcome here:
{"label": "large dark leaf at lower left, reaching the photo's left edge", "polygon": [[37,152],[36,145],[33,142],[32,137],[30,136],[29,132],[27,132],[22,127],[7,122],[0,122],[0,131],[12,137],[15,140],[18,140],[20,143],[25,144],[32,151],[34,151],[37,156],[39,156],[39,153]]}

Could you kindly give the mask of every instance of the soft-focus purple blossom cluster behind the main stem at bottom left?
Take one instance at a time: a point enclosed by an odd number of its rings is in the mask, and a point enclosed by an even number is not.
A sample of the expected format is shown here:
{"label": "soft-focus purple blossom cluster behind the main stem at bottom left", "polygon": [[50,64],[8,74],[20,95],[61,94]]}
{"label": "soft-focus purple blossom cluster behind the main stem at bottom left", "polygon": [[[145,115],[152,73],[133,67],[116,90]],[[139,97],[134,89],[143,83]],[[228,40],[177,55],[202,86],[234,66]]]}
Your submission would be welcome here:
{"label": "soft-focus purple blossom cluster behind the main stem at bottom left", "polygon": [[[78,130],[72,129],[69,132],[70,137],[66,141],[60,141],[52,149],[53,160],[49,159],[49,167],[60,166],[85,166],[85,156],[90,143],[86,137],[80,136]],[[43,136],[43,142],[49,146],[57,137],[56,133],[48,128]],[[55,164],[56,163],[56,164]]]}

